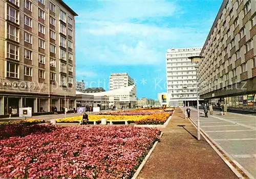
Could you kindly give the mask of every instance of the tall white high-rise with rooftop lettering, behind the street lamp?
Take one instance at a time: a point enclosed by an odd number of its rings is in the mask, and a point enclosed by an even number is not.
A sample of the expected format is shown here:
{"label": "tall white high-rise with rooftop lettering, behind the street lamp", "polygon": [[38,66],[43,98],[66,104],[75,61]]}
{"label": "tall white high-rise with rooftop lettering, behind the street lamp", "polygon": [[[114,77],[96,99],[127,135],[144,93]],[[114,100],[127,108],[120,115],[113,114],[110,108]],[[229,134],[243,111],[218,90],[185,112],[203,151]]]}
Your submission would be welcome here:
{"label": "tall white high-rise with rooftop lettering, behind the street lamp", "polygon": [[169,106],[196,105],[196,68],[188,57],[199,56],[202,48],[170,48],[165,54],[167,103]]}

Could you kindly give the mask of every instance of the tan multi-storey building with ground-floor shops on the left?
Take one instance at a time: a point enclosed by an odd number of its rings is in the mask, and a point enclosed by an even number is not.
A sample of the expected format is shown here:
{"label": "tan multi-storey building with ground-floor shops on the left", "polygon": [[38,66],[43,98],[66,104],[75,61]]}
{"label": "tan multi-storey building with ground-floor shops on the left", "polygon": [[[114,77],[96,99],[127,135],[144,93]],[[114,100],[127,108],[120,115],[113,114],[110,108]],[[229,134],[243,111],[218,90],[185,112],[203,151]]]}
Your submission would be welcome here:
{"label": "tan multi-storey building with ground-floor shops on the left", "polygon": [[75,101],[75,16],[61,0],[0,2],[0,115]]}

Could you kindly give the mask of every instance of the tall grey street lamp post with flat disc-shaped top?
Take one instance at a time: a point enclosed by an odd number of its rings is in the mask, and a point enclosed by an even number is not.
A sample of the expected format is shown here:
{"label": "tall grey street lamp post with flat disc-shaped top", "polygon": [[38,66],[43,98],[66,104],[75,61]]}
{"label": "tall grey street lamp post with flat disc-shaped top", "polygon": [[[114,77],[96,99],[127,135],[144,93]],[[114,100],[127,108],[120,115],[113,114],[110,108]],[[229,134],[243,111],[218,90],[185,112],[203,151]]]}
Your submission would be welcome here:
{"label": "tall grey street lamp post with flat disc-shaped top", "polygon": [[193,56],[193,57],[188,57],[188,59],[191,60],[191,63],[196,63],[196,88],[197,88],[197,140],[201,139],[201,134],[200,134],[200,121],[199,121],[199,99],[198,99],[198,78],[197,78],[197,73],[198,73],[198,64],[201,62],[201,59],[204,58],[202,56]]}

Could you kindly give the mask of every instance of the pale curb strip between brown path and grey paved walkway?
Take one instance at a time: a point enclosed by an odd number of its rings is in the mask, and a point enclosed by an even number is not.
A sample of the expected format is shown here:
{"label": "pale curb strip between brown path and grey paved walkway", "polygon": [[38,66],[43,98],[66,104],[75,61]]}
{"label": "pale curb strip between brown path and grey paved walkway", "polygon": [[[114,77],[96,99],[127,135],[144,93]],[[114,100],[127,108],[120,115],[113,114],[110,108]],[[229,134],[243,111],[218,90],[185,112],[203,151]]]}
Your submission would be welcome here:
{"label": "pale curb strip between brown path and grey paved walkway", "polygon": [[[188,118],[188,120],[197,128],[195,122]],[[212,140],[205,132],[200,129],[200,134],[207,141],[207,143],[214,149],[220,158],[227,164],[227,166],[236,174],[239,178],[253,178],[236,160],[234,160],[227,152],[214,140]],[[249,176],[250,177],[249,177]]]}

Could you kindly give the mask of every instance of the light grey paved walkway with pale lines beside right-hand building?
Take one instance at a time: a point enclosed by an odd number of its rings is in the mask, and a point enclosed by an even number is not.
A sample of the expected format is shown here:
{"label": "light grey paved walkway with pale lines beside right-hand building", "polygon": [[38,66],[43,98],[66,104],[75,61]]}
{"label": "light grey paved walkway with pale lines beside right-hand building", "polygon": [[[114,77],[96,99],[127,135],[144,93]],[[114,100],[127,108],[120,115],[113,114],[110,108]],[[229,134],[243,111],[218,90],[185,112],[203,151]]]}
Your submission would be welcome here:
{"label": "light grey paved walkway with pale lines beside right-hand building", "polygon": [[[193,108],[191,108],[193,109]],[[200,112],[203,112],[200,110]],[[197,123],[197,110],[191,110],[190,119]],[[227,154],[237,161],[250,178],[256,178],[256,116],[214,111],[208,118],[200,114],[201,129]]]}

